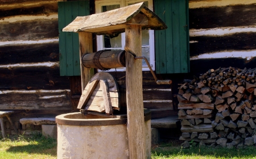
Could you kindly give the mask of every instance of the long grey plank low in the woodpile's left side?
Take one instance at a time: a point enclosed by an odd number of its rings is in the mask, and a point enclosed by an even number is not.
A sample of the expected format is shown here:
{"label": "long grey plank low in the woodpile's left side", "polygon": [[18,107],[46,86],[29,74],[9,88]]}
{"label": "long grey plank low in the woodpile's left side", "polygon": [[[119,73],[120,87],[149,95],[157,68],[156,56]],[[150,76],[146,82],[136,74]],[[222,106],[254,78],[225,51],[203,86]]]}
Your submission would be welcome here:
{"label": "long grey plank low in the woodpile's left side", "polygon": [[191,126],[181,126],[181,132],[213,132],[211,124],[199,124],[193,127]]}

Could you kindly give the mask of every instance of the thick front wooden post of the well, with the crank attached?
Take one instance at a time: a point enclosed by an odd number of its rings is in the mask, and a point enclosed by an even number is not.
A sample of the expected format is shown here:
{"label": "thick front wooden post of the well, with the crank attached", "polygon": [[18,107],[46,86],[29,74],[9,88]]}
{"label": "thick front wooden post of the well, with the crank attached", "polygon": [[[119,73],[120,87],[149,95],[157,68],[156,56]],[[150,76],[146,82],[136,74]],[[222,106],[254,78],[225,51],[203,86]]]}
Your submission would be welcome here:
{"label": "thick front wooden post of the well, with the crank attached", "polygon": [[[126,25],[125,46],[137,56],[142,56],[141,25]],[[142,61],[126,53],[126,99],[129,156],[146,158],[144,137],[144,110],[142,97]]]}

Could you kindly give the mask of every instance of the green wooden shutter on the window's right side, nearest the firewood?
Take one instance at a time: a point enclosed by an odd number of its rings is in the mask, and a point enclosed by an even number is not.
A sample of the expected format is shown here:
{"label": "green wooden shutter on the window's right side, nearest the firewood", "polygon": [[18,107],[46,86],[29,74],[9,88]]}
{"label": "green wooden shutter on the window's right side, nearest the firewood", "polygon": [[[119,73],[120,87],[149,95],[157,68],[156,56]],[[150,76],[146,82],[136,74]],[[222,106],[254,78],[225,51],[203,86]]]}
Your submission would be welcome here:
{"label": "green wooden shutter on the window's right side, nearest the firewood", "polygon": [[157,74],[189,72],[188,0],[154,0],[167,29],[155,31]]}

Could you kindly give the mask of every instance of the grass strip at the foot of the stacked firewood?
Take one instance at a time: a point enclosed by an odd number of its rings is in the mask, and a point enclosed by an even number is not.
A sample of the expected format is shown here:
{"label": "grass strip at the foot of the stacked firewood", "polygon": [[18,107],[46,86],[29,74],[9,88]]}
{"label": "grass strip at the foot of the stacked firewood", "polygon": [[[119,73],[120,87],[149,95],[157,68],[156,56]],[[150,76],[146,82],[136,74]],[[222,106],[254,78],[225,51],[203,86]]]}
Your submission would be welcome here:
{"label": "grass strip at the foot of the stacked firewood", "polygon": [[256,158],[256,148],[255,147],[246,147],[241,149],[228,149],[222,147],[191,147],[188,149],[183,149],[180,147],[180,144],[170,142],[168,144],[159,144],[155,145],[151,149],[152,159],[167,159],[167,158],[177,158],[177,159],[213,159],[213,158]]}

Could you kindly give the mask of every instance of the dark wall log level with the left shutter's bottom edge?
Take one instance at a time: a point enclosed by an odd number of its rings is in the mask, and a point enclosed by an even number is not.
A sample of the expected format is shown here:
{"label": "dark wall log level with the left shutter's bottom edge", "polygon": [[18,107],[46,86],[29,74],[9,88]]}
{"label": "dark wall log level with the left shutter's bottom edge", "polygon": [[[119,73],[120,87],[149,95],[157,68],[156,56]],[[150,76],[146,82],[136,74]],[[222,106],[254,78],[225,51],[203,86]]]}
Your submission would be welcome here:
{"label": "dark wall log level with the left shutter's bottom edge", "polygon": [[59,67],[0,68],[0,89],[6,87],[68,87],[69,79],[60,76]]}

